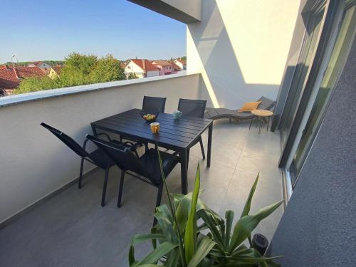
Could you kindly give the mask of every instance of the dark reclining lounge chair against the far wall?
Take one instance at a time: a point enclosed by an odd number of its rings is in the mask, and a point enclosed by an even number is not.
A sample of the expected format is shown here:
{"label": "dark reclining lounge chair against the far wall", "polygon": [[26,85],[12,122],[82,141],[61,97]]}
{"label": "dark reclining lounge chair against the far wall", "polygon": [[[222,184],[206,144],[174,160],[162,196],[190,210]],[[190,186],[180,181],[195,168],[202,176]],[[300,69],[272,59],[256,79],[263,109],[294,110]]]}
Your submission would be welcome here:
{"label": "dark reclining lounge chair against the far wall", "polygon": [[[276,105],[275,101],[265,98],[264,96],[257,101],[262,101],[262,103],[258,105],[259,110],[271,110]],[[229,110],[227,108],[206,108],[204,117],[211,120],[233,119],[239,122],[240,120],[251,120],[253,115],[251,112],[239,112],[239,110]]]}

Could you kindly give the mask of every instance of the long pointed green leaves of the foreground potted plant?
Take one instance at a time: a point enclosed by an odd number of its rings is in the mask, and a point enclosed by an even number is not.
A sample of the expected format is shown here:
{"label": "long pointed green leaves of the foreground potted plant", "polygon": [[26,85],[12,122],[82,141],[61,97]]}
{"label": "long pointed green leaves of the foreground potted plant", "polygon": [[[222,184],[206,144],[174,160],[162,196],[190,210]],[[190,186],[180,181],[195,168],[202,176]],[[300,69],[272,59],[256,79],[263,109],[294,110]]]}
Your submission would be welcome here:
{"label": "long pointed green leaves of the foreground potted plant", "polygon": [[[199,199],[199,164],[194,190],[187,195],[169,194],[163,172],[162,177],[169,199],[168,206],[163,204],[157,207],[157,225],[150,234],[137,234],[132,238],[130,267],[278,266],[273,262],[276,257],[263,257],[256,249],[243,244],[246,239],[251,244],[251,231],[282,203],[279,201],[260,209],[256,214],[248,214],[258,176],[234,229],[234,211],[226,211],[225,219],[222,219]],[[199,219],[202,223],[198,226]],[[152,241],[153,250],[141,261],[136,261],[135,245],[143,241]]]}

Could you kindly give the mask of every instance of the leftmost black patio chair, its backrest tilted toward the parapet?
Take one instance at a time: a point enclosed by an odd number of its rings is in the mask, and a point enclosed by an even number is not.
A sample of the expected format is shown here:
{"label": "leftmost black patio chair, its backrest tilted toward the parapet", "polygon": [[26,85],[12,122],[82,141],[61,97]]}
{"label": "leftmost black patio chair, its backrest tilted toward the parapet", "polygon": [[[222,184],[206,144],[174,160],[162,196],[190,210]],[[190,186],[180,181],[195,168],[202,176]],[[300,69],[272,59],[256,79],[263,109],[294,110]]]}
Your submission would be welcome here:
{"label": "leftmost black patio chair, its backrest tilted toward the parapet", "polygon": [[[95,164],[96,166],[100,167],[101,169],[105,169],[105,177],[104,177],[104,185],[103,185],[103,194],[101,197],[101,206],[105,206],[105,195],[106,195],[106,188],[108,186],[108,176],[109,176],[109,169],[112,167],[115,162],[113,162],[110,157],[108,157],[105,152],[102,150],[94,150],[93,152],[87,152],[85,150],[85,147],[87,145],[88,139],[85,139],[83,143],[83,147],[81,147],[75,140],[73,140],[72,137],[69,137],[66,135],[64,132],[61,132],[60,130],[51,127],[50,125],[47,125],[44,122],[41,122],[41,125],[45,127],[47,130],[53,133],[53,135],[56,135],[59,140],[61,140],[64,144],[66,144],[75,154],[77,154],[79,157],[81,157],[80,161],[80,174],[79,174],[79,179],[78,179],[78,188],[82,188],[82,178],[83,178],[83,164],[84,160],[87,160],[88,162],[91,162]],[[120,143],[116,140],[111,140],[109,135],[103,133],[98,134],[100,135],[105,135],[110,142],[117,142]],[[137,152],[135,150],[135,146],[133,146],[130,142],[125,142],[122,145],[127,147],[127,149],[133,150],[133,152],[137,155]],[[138,157],[138,155],[137,155]]]}

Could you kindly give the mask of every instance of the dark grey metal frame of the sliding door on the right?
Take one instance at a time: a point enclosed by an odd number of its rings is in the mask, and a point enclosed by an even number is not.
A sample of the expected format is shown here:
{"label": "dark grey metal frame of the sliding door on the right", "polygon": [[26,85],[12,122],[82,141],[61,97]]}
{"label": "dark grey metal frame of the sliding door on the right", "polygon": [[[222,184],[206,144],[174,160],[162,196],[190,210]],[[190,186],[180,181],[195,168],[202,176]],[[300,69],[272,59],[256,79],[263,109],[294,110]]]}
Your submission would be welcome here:
{"label": "dark grey metal frame of the sliding door on the right", "polygon": [[[355,3],[356,0],[326,1],[327,9],[325,10],[325,21],[323,23],[323,28],[321,29],[320,40],[315,52],[315,58],[313,59],[313,65],[310,66],[310,75],[306,80],[305,90],[302,92],[300,102],[298,103],[297,111],[295,112],[295,117],[291,122],[292,126],[290,128],[288,139],[286,141],[285,147],[283,148],[283,152],[279,162],[279,167],[283,169],[283,173],[285,174],[284,177],[286,179],[287,191],[286,195],[288,196],[288,199],[293,193],[293,187],[291,184],[292,179],[290,176],[290,167],[292,167],[293,156],[298,148],[304,127],[310,116],[311,109],[313,108],[318,89],[320,88],[321,82],[323,81],[325,75],[325,71],[327,70],[328,63],[330,61],[330,57],[335,46],[335,41],[340,31],[345,12],[347,11],[347,9],[350,9],[351,6],[355,5]],[[302,50],[300,49],[300,51]],[[340,74],[341,73],[337,75],[335,85],[337,85],[337,81],[340,79]],[[293,75],[295,75],[295,73],[293,73]],[[328,106],[330,105],[330,100],[333,98],[333,94],[335,93],[336,87],[335,85],[332,91],[330,92],[329,98],[325,102],[325,108],[320,114],[320,120],[318,122],[318,125],[316,125],[315,127],[315,134],[313,135],[312,140],[310,141],[310,145],[308,145],[308,147],[306,148],[305,155],[302,159],[303,163],[300,167],[300,172],[303,169],[305,159],[308,157],[310,148],[313,147],[315,137],[318,135],[320,125],[322,124],[323,119],[325,117],[325,113],[328,110]],[[281,142],[283,142],[283,140],[281,140]],[[300,175],[300,172],[298,174],[298,177]],[[297,184],[298,182],[298,177],[296,177],[295,179],[295,184]],[[288,199],[286,199],[286,201],[288,201]]]}

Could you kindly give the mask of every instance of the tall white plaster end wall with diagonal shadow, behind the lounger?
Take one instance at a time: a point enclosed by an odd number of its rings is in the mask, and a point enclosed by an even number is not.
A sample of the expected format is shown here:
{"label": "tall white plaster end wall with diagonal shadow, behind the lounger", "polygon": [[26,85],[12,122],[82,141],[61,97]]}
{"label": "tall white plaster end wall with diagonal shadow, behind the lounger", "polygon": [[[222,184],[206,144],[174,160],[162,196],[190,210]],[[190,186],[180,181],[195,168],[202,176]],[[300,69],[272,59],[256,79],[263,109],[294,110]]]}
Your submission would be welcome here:
{"label": "tall white plaster end wall with diagonal shadow, behind the lounger", "polygon": [[299,0],[204,0],[201,22],[187,26],[187,71],[201,72],[210,106],[239,108],[276,99]]}

